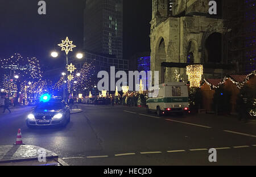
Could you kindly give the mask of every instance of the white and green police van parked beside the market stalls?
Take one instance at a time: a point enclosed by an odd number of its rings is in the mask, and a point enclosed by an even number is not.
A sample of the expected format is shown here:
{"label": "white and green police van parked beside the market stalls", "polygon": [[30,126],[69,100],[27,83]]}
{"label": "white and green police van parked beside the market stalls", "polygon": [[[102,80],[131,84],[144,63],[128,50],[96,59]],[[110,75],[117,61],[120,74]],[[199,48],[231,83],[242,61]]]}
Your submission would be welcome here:
{"label": "white and green police van parked beside the market stalls", "polygon": [[188,113],[188,87],[184,82],[162,83],[148,90],[147,112],[156,111],[158,116],[167,113]]}

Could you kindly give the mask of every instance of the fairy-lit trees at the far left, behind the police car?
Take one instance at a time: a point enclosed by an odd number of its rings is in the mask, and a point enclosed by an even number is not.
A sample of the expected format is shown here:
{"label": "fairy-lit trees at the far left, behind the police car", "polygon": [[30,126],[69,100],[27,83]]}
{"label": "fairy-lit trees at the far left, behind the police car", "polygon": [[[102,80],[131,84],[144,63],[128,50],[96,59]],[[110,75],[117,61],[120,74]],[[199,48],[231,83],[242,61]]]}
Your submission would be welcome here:
{"label": "fairy-lit trees at the far left, behind the police car", "polygon": [[[19,91],[27,100],[53,88],[52,81],[43,79],[43,72],[36,57],[24,58],[21,54],[15,53],[0,60],[0,63],[1,69],[10,70],[10,74],[4,74],[2,83],[3,92],[9,96],[14,96]],[[15,75],[16,78],[13,78]]]}

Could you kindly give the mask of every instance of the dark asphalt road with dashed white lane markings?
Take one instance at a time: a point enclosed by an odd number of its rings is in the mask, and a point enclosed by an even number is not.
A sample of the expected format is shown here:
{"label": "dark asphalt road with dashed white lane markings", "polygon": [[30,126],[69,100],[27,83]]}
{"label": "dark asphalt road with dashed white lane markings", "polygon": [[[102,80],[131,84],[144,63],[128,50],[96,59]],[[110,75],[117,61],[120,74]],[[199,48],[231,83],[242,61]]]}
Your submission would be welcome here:
{"label": "dark asphalt road with dashed white lane markings", "polygon": [[[80,105],[65,128],[26,127],[31,107],[0,113],[0,145],[23,142],[69,165],[256,165],[256,123],[216,115],[157,117],[144,108]],[[210,148],[217,162],[209,162]]]}

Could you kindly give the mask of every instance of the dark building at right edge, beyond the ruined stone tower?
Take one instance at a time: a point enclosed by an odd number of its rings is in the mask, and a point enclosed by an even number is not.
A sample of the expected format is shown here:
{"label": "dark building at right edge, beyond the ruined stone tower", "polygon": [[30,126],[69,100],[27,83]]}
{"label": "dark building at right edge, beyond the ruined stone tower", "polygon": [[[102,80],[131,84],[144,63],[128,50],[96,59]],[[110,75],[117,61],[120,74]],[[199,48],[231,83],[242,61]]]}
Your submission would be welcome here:
{"label": "dark building at right edge, beyond the ruined stone tower", "polygon": [[256,57],[256,1],[224,1],[227,58],[236,64],[236,72],[248,74],[255,70]]}

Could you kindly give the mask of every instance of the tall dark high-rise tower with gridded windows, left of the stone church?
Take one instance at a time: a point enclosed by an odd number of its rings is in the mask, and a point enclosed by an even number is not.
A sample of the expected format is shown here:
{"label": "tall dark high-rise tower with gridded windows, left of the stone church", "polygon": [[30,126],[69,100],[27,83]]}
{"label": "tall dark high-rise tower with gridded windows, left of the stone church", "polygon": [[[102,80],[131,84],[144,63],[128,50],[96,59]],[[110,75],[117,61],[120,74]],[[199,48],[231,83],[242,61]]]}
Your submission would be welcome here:
{"label": "tall dark high-rise tower with gridded windows, left of the stone church", "polygon": [[[123,60],[123,0],[86,0],[84,11],[84,49],[115,55],[115,67],[127,70]],[[114,65],[113,65],[114,66]]]}

